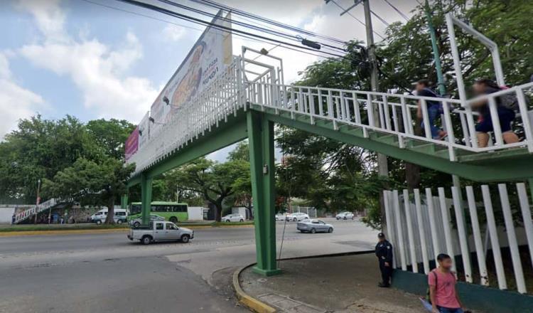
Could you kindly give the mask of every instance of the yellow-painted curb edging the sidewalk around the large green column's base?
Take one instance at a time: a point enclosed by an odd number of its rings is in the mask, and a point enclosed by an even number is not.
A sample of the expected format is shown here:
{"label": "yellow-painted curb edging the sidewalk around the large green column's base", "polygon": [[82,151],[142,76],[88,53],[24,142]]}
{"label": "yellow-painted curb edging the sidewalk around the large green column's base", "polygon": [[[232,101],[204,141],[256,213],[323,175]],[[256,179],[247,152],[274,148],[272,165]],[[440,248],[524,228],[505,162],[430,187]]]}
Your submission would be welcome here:
{"label": "yellow-painted curb edging the sidewalk around the large green column's base", "polygon": [[[281,259],[281,261],[284,260],[301,260],[301,259],[313,259],[313,258],[334,258],[334,257],[340,257],[344,255],[361,255],[361,254],[367,254],[367,253],[374,253],[374,250],[364,250],[364,251],[356,251],[356,252],[346,252],[346,253],[331,253],[326,255],[309,255],[305,257],[294,257],[294,258],[285,258]],[[237,299],[239,300],[239,303],[243,304],[248,309],[252,310],[252,312],[257,313],[275,313],[277,312],[276,309],[269,306],[269,304],[266,304],[264,302],[261,302],[259,299],[256,299],[250,295],[248,295],[244,290],[242,290],[240,283],[239,283],[239,275],[243,270],[246,270],[248,267],[252,267],[256,265],[257,263],[252,263],[249,265],[246,265],[244,267],[240,267],[235,272],[233,272],[233,289],[235,290],[235,295],[237,296]]]}

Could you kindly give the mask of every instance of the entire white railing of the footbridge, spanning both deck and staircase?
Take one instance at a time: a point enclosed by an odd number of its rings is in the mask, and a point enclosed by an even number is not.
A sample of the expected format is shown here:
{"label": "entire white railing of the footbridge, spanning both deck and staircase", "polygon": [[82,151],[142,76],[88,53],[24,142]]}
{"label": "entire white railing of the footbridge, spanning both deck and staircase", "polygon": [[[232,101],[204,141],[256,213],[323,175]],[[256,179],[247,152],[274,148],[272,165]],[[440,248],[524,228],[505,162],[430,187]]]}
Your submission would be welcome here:
{"label": "entire white railing of the footbridge, spanning both deck and staircase", "polygon": [[[448,158],[456,161],[456,150],[468,152],[491,152],[513,147],[527,147],[533,152],[533,132],[531,110],[527,97],[533,89],[533,83],[519,85],[507,90],[483,95],[472,100],[457,100],[441,97],[419,97],[386,92],[367,92],[361,90],[340,90],[323,87],[306,87],[284,85],[281,82],[281,70],[264,65],[253,80],[248,80],[247,64],[263,65],[254,60],[235,57],[232,64],[212,83],[178,109],[171,121],[163,124],[148,144],[139,149],[128,162],[136,163],[134,175],[181,149],[198,136],[217,127],[220,122],[227,122],[227,117],[236,115],[237,110],[246,110],[247,104],[270,107],[279,112],[290,112],[291,117],[306,115],[311,124],[316,120],[328,120],[338,129],[341,124],[360,127],[365,137],[370,132],[380,132],[397,136],[400,148],[408,147],[409,139],[435,144],[448,150]],[[521,138],[516,143],[505,143],[497,115],[497,97],[512,93],[519,102],[519,112],[513,128]],[[475,132],[478,113],[472,105],[486,101],[494,125],[492,140],[488,147],[479,147]],[[421,102],[421,119],[417,119],[418,102]],[[443,140],[431,136],[428,102],[441,107],[439,127],[448,132]],[[423,121],[424,134],[416,134],[419,120]]]}

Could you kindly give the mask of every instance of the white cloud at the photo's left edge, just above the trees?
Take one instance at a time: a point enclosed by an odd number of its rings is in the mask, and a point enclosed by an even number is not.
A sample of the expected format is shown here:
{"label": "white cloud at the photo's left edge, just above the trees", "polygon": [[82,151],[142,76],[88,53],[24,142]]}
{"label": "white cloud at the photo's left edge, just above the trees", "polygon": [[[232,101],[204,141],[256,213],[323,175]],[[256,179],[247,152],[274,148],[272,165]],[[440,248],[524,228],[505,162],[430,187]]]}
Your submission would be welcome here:
{"label": "white cloud at the photo's left edge, just above the trees", "polygon": [[19,119],[30,117],[41,108],[45,108],[43,98],[14,82],[9,60],[0,53],[0,140],[16,127]]}

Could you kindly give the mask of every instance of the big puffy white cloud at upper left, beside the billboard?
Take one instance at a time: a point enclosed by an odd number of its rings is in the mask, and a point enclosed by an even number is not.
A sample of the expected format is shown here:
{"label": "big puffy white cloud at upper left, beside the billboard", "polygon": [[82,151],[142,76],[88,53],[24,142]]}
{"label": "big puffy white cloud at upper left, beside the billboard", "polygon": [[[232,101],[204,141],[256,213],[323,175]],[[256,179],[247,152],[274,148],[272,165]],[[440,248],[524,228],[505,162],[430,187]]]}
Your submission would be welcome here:
{"label": "big puffy white cloud at upper left, beside the billboard", "polygon": [[97,38],[88,39],[87,31],[80,38],[70,36],[58,1],[23,0],[20,7],[33,15],[42,33],[40,42],[19,49],[21,55],[33,65],[70,77],[82,92],[85,107],[99,117],[141,119],[158,90],[146,78],[126,73],[143,55],[134,33],[126,33],[124,42],[113,48]]}

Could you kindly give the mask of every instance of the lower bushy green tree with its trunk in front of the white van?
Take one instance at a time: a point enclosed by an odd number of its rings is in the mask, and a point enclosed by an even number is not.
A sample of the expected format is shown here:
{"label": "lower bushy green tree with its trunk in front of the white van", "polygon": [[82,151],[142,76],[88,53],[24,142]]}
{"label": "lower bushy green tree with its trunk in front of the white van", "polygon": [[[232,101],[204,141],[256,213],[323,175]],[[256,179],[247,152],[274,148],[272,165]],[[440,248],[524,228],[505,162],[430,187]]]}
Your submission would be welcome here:
{"label": "lower bushy green tree with its trunk in front of the white van", "polygon": [[114,223],[114,204],[126,192],[127,180],[134,164],[124,166],[122,161],[107,158],[97,164],[77,159],[72,166],[58,171],[53,179],[43,181],[43,194],[48,197],[72,199],[82,205],[107,206],[105,223]]}

